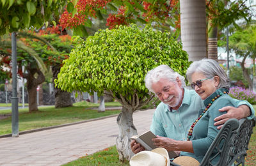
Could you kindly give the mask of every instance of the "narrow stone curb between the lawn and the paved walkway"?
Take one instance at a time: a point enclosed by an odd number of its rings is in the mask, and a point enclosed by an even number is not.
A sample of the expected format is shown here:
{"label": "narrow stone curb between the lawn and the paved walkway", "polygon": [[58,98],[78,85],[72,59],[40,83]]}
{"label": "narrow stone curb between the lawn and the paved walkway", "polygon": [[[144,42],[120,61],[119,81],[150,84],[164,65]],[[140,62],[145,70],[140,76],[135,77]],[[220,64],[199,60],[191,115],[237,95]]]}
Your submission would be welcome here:
{"label": "narrow stone curb between the lawn and the paved walkway", "polygon": [[[78,122],[74,122],[74,123],[60,124],[60,125],[57,125],[57,126],[49,126],[49,127],[45,127],[45,128],[37,128],[37,129],[33,129],[33,130],[26,130],[24,132],[19,132],[19,135],[26,134],[26,133],[40,132],[40,131],[43,131],[43,130],[50,130],[50,129],[53,129],[53,128],[60,128],[60,127],[64,127],[64,126],[71,126],[71,125],[74,125],[74,124],[86,123],[86,122],[90,122],[90,121],[97,121],[97,120],[100,120],[100,119],[106,119],[108,117],[115,117],[115,116],[118,116],[118,114],[110,115],[110,116],[97,117],[97,118],[94,118],[94,119],[88,119],[88,120],[78,121]],[[9,134],[6,134],[6,135],[0,135],[0,138],[5,138],[5,137],[12,137],[12,134],[9,133]]]}

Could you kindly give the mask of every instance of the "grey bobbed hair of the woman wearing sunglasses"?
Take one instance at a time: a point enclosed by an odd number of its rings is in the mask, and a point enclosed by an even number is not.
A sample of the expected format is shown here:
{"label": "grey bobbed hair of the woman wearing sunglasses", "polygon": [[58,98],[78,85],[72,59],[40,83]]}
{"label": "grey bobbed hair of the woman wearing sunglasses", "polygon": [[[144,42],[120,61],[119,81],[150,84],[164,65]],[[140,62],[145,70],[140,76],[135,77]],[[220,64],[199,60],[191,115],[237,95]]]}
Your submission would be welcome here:
{"label": "grey bobbed hair of the woman wearing sunglasses", "polygon": [[191,76],[195,72],[204,74],[206,78],[214,76],[220,77],[220,84],[217,86],[218,88],[229,88],[230,86],[226,72],[223,70],[223,68],[221,68],[220,64],[218,64],[213,59],[202,59],[200,61],[195,61],[190,64],[186,73],[189,82],[192,82]]}

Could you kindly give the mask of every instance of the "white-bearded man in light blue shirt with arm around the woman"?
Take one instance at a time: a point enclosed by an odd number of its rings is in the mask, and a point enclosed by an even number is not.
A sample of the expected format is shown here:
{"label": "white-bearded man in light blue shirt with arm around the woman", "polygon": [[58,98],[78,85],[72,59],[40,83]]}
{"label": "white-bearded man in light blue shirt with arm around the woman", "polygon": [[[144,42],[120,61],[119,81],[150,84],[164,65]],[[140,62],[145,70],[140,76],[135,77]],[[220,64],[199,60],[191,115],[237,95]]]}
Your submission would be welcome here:
{"label": "white-bearded man in light blue shirt with arm around the woman", "polygon": [[[145,85],[149,91],[155,93],[161,103],[157,106],[152,119],[150,130],[158,135],[161,144],[168,147],[168,140],[186,140],[191,124],[198,117],[198,112],[204,109],[204,102],[194,89],[186,89],[184,77],[167,65],[160,65],[150,70],[145,77]],[[221,128],[230,118],[253,118],[254,109],[244,100],[236,100],[237,108],[223,107],[220,111],[227,111],[216,117],[214,125]],[[159,140],[159,139],[158,139]],[[144,147],[132,140],[133,153],[139,153]]]}

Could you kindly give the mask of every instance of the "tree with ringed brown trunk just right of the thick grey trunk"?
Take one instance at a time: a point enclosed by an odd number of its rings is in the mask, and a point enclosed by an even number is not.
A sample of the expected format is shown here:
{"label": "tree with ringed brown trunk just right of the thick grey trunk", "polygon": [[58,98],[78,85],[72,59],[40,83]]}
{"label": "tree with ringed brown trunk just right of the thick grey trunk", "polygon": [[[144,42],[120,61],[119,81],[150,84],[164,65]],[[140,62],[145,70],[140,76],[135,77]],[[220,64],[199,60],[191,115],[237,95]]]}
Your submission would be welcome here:
{"label": "tree with ringed brown trunk just right of the thick grey trunk", "polygon": [[[218,34],[228,26],[232,25],[240,29],[237,20],[250,24],[254,15],[251,6],[245,1],[207,1],[208,19],[208,58],[218,60]],[[229,27],[230,31],[230,27]],[[235,30],[236,31],[236,30]],[[226,34],[225,34],[226,35]]]}

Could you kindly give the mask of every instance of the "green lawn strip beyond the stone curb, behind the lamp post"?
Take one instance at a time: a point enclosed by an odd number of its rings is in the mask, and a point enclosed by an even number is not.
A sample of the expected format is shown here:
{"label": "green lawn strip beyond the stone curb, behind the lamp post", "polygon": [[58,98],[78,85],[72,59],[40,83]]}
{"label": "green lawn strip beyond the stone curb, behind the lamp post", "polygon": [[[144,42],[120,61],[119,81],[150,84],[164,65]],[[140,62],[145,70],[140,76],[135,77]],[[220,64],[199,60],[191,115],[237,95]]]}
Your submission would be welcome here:
{"label": "green lawn strip beyond the stone curb, behind the lamp post", "polygon": [[[77,106],[79,105],[79,106]],[[108,106],[116,106],[115,102],[107,104]],[[90,107],[99,107],[99,104],[81,102],[75,103],[74,107],[66,107],[55,109],[51,107],[40,107],[38,111],[28,113],[27,109],[19,110],[19,132],[43,128],[48,126],[56,126],[65,123],[74,123],[86,119],[96,117],[109,116],[118,114],[120,110],[106,110],[105,112],[97,112],[97,110],[88,109]],[[8,114],[9,112],[0,111],[0,114]],[[12,119],[8,117],[0,120],[0,135],[12,133]]]}

